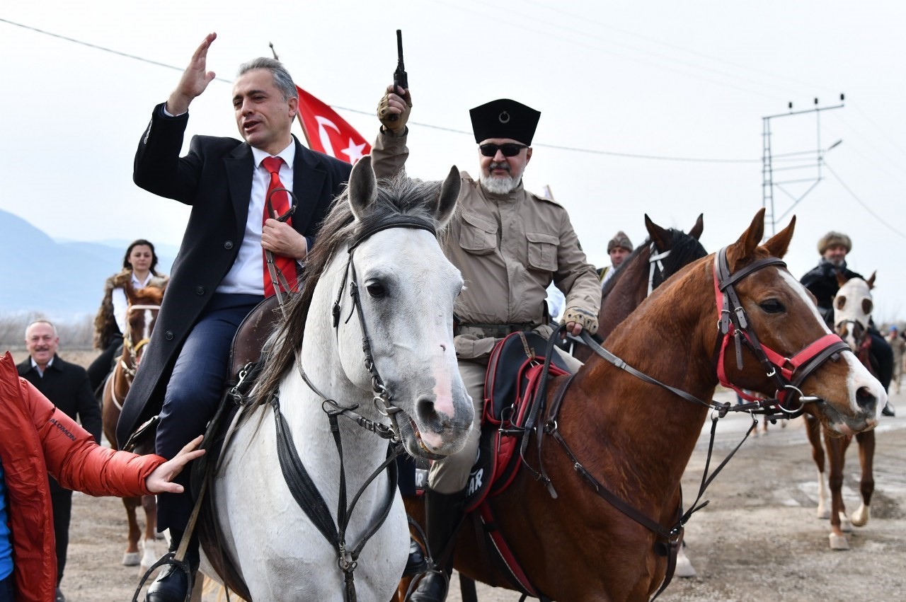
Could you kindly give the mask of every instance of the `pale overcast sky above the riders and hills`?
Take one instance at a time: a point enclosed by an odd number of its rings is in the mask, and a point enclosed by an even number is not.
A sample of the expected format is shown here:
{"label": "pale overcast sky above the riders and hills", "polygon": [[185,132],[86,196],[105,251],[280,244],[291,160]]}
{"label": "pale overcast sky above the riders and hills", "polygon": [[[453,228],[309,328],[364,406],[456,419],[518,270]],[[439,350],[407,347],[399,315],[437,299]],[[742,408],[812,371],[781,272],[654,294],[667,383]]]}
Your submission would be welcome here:
{"label": "pale overcast sky above the riders and hills", "polygon": [[[397,28],[414,100],[410,175],[441,178],[452,164],[474,175],[474,139],[437,128],[467,132],[468,109],[487,100],[524,102],[542,112],[525,184],[551,186],[599,265],[617,230],[641,243],[645,213],[684,230],[704,213],[708,251],[733,242],[762,206],[762,118],[845,93],[820,129],[814,113],[770,120],[774,167],[786,168],[775,179],[805,180],[775,187],[777,229],[798,216],[796,276],[817,262],[822,234],[852,236],[850,266],[878,272],[875,319],[906,319],[906,5],[892,0],[9,2],[0,208],[55,238],[178,244],[188,210],[134,186],[132,158],[206,33],[218,35],[208,68],[226,81],[192,104],[187,147],[192,134],[237,136],[229,81],[270,42],[301,87],[373,139]],[[805,194],[814,150],[837,140]]]}

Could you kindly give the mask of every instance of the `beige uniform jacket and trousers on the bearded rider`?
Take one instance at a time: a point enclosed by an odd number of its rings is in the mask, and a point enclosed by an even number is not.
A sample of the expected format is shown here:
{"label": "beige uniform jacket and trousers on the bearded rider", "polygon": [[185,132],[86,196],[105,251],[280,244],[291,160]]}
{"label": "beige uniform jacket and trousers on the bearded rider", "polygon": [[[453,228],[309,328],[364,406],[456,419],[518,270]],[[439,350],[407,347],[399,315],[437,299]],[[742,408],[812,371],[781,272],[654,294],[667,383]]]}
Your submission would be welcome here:
{"label": "beige uniform jacket and trousers on the bearded rider", "polygon": [[[405,136],[381,133],[371,148],[377,177],[400,173],[408,156]],[[494,327],[536,330],[546,339],[552,332],[545,318],[547,286],[553,281],[564,292],[564,307],[597,315],[601,284],[563,206],[525,191],[522,184],[507,195],[488,193],[466,172],[462,172],[458,216],[448,226],[444,253],[466,282],[455,308],[459,326],[454,344],[478,425],[487,357],[506,334],[495,332]],[[582,365],[567,358],[573,369]],[[465,449],[434,464],[429,477],[432,489],[452,493],[466,486],[476,457],[477,431]]]}

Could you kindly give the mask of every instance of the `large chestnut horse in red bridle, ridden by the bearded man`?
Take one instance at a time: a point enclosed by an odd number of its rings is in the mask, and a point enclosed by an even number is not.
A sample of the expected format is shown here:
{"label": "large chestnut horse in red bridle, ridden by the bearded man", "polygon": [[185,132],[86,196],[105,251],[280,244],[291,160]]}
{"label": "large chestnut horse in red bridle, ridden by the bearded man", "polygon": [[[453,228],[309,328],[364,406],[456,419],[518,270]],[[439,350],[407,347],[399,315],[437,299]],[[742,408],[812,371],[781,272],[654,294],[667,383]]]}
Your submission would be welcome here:
{"label": "large chestnut horse in red bridle, ridden by the bearded man", "polygon": [[[680,479],[718,378],[767,397],[801,391],[807,397],[785,403],[839,433],[877,425],[883,387],[830,333],[779,259],[794,225],[759,246],[759,211],[736,243],[683,268],[612,332],[607,347],[617,359],[595,356],[574,377],[550,382],[539,427],[526,435],[532,453],[509,488],[488,500],[493,522],[471,514],[459,530],[461,573],[518,588],[478,540],[493,524],[533,597],[649,599],[679,547],[688,518],[679,518]],[[733,340],[744,345],[738,364]],[[420,500],[407,500],[407,509],[424,516]]]}

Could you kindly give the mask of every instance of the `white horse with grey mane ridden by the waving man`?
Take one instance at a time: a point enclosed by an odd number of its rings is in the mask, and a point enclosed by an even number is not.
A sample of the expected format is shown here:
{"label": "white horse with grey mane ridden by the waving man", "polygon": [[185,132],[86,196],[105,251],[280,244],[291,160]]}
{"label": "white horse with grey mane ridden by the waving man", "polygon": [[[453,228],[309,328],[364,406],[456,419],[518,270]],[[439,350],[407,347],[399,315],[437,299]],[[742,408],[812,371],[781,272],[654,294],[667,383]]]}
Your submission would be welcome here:
{"label": "white horse with grey mane ridden by the waving man", "polygon": [[[387,435],[392,429],[415,456],[440,457],[465,444],[473,409],[452,334],[463,281],[435,234],[453,215],[459,182],[454,167],[442,185],[397,178],[377,186],[366,157],[324,222],[304,290],[265,345],[251,416],[236,421],[214,482],[219,543],[252,600],[383,602],[400,581],[409,554],[406,513],[387,471],[376,471],[388,443],[336,416],[341,464],[327,412],[348,408],[365,425]],[[284,480],[273,396],[326,502],[327,522],[342,530],[338,508],[354,503],[340,549]]]}

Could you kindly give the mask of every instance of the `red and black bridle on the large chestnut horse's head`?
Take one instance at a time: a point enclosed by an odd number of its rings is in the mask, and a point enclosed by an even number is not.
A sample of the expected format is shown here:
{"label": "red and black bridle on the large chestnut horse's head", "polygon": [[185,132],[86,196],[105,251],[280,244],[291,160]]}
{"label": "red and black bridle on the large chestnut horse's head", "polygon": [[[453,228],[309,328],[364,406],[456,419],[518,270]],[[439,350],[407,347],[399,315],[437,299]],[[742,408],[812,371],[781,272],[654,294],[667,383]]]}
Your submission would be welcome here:
{"label": "red and black bridle on the large chestnut horse's head", "polygon": [[[750,263],[736,273],[730,273],[727,262],[727,248],[722,248],[714,255],[714,292],[717,298],[718,318],[718,380],[724,387],[734,389],[740,397],[749,401],[761,401],[740,390],[739,387],[728,381],[724,367],[724,355],[730,339],[733,339],[736,349],[737,369],[742,369],[742,345],[745,344],[755,355],[765,374],[776,385],[776,399],[778,407],[787,414],[802,413],[805,403],[818,401],[817,397],[805,397],[799,387],[814,371],[824,365],[824,362],[843,351],[849,351],[849,345],[835,334],[826,334],[800,350],[792,358],[786,358],[773,349],[762,345],[757,338],[755,330],[747,319],[746,310],[739,302],[734,284],[752,272],[757,272],[768,266],[776,265],[786,268],[786,263],[777,257],[767,257]],[[795,395],[799,407],[789,409],[784,407],[790,395]]]}

